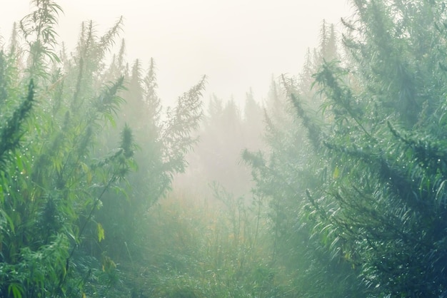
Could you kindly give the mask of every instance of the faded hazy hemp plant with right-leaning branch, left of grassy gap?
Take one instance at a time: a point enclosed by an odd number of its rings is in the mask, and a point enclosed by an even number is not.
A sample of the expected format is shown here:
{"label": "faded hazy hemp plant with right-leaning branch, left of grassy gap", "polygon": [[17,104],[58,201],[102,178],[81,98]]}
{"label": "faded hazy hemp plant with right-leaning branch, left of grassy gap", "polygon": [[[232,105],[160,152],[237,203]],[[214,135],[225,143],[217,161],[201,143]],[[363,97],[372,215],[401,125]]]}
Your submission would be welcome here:
{"label": "faded hazy hemp plant with right-leaning branch, left of grassy gap", "polygon": [[[151,241],[144,236],[149,208],[166,195],[174,175],[184,171],[185,155],[196,143],[193,133],[201,120],[205,78],[180,96],[166,115],[162,115],[157,96],[153,60],[145,74],[136,61],[125,80],[129,84],[121,96],[126,104],[116,125],[129,123],[135,128],[134,138],[139,144],[132,148],[135,172],[126,173],[126,180],[119,184],[120,191],[107,193],[101,201],[96,220],[106,232],[101,245],[96,244],[95,254],[106,251],[114,260],[132,262],[133,258],[143,257],[144,247]],[[114,131],[109,133],[109,139],[117,138]]]}

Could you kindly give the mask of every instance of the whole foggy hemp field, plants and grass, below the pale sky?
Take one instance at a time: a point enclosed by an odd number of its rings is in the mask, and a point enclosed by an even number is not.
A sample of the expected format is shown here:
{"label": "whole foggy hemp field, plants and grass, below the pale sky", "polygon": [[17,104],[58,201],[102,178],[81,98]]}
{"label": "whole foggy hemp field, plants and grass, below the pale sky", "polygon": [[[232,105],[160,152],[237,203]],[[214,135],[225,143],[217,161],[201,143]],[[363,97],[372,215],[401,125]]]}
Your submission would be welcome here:
{"label": "whole foggy hemp field, plants and grass, below the pale sky", "polygon": [[31,2],[1,39],[1,297],[447,297],[443,1],[352,1],[243,112],[205,76],[164,108],[121,20],[69,52]]}

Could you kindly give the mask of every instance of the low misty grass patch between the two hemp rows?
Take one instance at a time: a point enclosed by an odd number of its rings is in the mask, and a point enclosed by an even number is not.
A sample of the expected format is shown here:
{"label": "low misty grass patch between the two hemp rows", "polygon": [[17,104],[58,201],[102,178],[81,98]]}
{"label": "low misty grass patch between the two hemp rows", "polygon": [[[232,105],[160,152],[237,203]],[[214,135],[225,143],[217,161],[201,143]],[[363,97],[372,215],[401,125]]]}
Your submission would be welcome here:
{"label": "low misty grass patch between the two hemp rows", "polygon": [[129,280],[134,297],[294,297],[284,272],[269,264],[264,206],[220,185],[214,192],[197,200],[174,187],[150,210],[152,245]]}

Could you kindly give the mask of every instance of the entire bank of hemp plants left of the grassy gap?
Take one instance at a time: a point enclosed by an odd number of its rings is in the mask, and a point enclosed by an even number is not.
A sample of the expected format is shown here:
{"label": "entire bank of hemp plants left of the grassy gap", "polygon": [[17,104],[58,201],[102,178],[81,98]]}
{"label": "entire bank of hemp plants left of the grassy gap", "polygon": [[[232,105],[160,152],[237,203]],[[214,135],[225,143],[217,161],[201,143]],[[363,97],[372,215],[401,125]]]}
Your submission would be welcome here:
{"label": "entire bank of hemp plants left of the grassy gap", "polygon": [[[116,288],[122,287],[123,274],[111,259],[118,254],[105,251],[116,215],[109,207],[114,200],[127,205],[124,211],[130,212],[116,223],[124,227],[124,243],[135,250],[138,234],[126,233],[137,229],[125,220],[139,217],[141,223],[171,175],[184,169],[201,117],[204,79],[161,123],[151,61],[141,93],[151,120],[141,125],[146,117],[141,114],[130,123],[134,133],[118,117],[126,110],[126,90],[136,88],[122,67],[124,46],[115,65],[106,68],[122,20],[104,36],[97,36],[93,22],[82,24],[76,51],[67,56],[63,48],[59,55],[54,28],[61,7],[54,1],[32,4],[35,11],[21,20],[20,31],[14,27],[9,48],[0,50],[0,296],[122,297]],[[104,131],[117,126],[121,133],[106,140]],[[146,128],[151,134],[145,140]],[[136,141],[142,148],[148,144],[144,154]],[[149,166],[141,177],[151,192],[137,193],[136,200],[129,183],[142,156],[148,158],[142,166]]]}

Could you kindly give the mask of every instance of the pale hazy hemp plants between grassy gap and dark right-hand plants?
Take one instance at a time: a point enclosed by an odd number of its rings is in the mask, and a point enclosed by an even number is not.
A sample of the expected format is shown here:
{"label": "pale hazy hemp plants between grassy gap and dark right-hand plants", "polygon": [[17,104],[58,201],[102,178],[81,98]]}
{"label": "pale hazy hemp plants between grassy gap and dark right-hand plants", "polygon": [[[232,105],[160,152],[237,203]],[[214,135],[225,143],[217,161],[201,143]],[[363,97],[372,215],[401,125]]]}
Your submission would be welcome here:
{"label": "pale hazy hemp plants between grassy gap and dark right-hand plants", "polygon": [[[291,88],[300,101],[290,100]],[[326,183],[325,168],[318,168],[325,160],[316,155],[321,144],[313,135],[321,120],[308,106],[297,113],[302,101],[313,101],[306,97],[311,93],[285,78],[282,89],[273,81],[265,120],[268,151],[245,150],[243,158],[252,168],[254,193],[268,204],[272,265],[286,269],[295,296],[361,296],[356,271],[339,255],[331,235],[318,229],[321,223],[306,198],[306,189],[321,193]]]}

